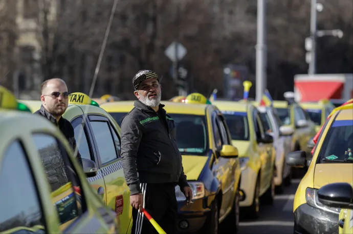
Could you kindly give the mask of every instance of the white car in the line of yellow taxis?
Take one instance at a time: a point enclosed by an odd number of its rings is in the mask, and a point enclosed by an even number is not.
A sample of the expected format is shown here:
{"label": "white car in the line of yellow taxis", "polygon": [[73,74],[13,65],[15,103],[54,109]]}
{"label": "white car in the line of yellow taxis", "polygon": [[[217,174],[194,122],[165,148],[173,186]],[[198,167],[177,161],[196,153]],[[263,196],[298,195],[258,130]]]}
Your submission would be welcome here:
{"label": "white car in the line of yellow taxis", "polygon": [[266,131],[273,137],[273,146],[276,150],[276,190],[281,193],[284,185],[290,185],[292,179],[291,166],[286,164],[285,155],[293,149],[292,135],[293,127],[281,126],[281,120],[277,111],[271,107],[259,106],[261,118],[265,124]]}

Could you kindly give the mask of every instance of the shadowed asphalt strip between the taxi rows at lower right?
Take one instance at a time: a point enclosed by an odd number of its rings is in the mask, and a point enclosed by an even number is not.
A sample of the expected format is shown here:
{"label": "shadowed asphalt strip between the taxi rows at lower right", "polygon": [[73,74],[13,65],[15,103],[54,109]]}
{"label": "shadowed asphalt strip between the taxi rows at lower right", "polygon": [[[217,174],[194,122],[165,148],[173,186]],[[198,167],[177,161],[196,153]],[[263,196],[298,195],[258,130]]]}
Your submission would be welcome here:
{"label": "shadowed asphalt strip between the taxi rows at lower right", "polygon": [[293,233],[293,201],[300,179],[293,179],[282,194],[275,196],[273,205],[260,206],[260,217],[256,220],[240,221],[239,234]]}

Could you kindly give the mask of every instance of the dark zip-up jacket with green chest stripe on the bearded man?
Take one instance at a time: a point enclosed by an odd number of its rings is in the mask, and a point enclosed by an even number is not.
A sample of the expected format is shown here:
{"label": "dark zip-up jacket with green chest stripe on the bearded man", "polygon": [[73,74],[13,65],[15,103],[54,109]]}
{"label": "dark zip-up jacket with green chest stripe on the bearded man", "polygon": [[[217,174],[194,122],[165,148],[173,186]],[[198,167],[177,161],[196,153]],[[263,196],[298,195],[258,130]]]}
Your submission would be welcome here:
{"label": "dark zip-up jacket with green chest stripe on the bearded man", "polygon": [[158,112],[135,101],[121,122],[121,163],[130,194],[141,193],[140,183],[189,186],[182,155],[175,140],[175,123],[164,105]]}

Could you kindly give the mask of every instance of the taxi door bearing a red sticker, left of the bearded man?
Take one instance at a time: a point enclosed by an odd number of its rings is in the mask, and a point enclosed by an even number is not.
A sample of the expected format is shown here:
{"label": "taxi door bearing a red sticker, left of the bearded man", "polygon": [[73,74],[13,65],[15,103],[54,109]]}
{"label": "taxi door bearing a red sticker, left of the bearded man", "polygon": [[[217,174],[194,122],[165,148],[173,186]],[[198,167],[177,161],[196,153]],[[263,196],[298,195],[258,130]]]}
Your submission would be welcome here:
{"label": "taxi door bearing a red sticker, left of the bearded man", "polygon": [[106,116],[89,114],[87,117],[105,182],[106,204],[117,213],[119,233],[126,233],[132,218],[132,207],[121,164],[118,128]]}

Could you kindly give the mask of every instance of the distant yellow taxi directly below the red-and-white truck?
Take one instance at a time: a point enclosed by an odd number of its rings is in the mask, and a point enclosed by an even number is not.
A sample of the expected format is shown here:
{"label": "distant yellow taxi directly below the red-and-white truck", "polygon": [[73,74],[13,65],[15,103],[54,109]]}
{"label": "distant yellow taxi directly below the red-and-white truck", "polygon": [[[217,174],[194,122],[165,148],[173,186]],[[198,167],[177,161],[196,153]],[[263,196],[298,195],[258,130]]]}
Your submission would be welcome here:
{"label": "distant yellow taxi directly below the red-and-white truck", "polygon": [[335,106],[325,99],[318,102],[300,102],[299,105],[315,123],[316,132],[320,130],[329,113],[335,109]]}

